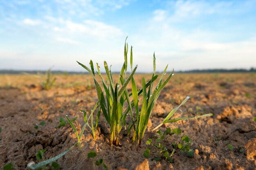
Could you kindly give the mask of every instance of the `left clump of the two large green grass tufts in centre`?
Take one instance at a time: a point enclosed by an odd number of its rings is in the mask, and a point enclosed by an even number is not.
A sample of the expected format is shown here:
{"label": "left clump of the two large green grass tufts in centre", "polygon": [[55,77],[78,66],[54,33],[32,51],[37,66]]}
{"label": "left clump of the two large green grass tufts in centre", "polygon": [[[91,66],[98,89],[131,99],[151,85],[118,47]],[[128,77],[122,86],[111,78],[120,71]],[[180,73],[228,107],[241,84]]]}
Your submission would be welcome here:
{"label": "left clump of the two large green grass tufts in centre", "polygon": [[[101,72],[99,70],[99,65],[97,63],[97,74],[101,78],[102,86],[100,86],[99,82],[97,82],[95,73],[94,73],[94,65],[92,60],[90,60],[90,68],[77,62],[80,66],[85,68],[93,77],[94,84],[97,91],[97,96],[99,99],[99,105],[103,112],[103,115],[110,126],[110,145],[118,145],[119,144],[119,132],[122,129],[125,122],[125,119],[122,119],[124,116],[124,102],[127,101],[128,105],[131,109],[130,99],[128,96],[128,91],[126,86],[132,79],[137,66],[132,70],[129,77],[126,79],[126,71],[127,71],[127,52],[128,44],[125,42],[125,62],[121,68],[119,81],[118,83],[114,83],[111,69],[108,67],[106,61],[104,61],[104,68],[107,74],[106,81],[103,79]],[[121,84],[120,84],[121,83]],[[114,85],[115,84],[115,85]],[[121,88],[119,87],[120,85]],[[132,115],[132,114],[131,114]],[[92,116],[91,116],[92,117]]]}

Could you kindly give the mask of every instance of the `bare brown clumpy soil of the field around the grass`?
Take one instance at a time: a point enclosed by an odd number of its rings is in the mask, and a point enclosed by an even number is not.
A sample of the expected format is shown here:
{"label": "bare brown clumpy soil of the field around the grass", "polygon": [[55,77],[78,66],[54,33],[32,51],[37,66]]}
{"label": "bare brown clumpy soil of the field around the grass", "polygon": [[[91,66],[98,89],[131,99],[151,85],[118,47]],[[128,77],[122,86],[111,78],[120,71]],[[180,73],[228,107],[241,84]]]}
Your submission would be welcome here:
{"label": "bare brown clumpy soil of the field around the grass", "polygon": [[[13,163],[15,170],[25,170],[31,161],[38,163],[36,152],[45,149],[44,159],[55,157],[76,143],[71,126],[56,128],[60,117],[67,114],[78,132],[83,126],[79,109],[90,112],[97,102],[96,90],[90,75],[55,75],[56,84],[50,90],[40,88],[40,79],[34,75],[0,75],[0,168]],[[117,79],[118,75],[115,75]],[[150,79],[150,75],[136,75]],[[7,81],[8,80],[8,81]],[[168,113],[190,96],[173,118],[214,113],[212,117],[177,121],[159,129],[181,128],[182,136],[193,138],[192,158],[177,150],[173,163],[148,159],[141,147],[131,144],[132,136],[121,131],[121,146],[110,146],[108,125],[100,117],[96,140],[86,128],[81,140],[82,149],[75,147],[57,160],[63,170],[97,170],[95,161],[102,158],[111,170],[255,170],[256,169],[256,74],[175,74],[162,91],[154,107],[148,130],[156,127]],[[141,84],[138,85],[140,88]],[[130,85],[128,89],[130,90]],[[95,115],[94,115],[95,116]],[[44,126],[34,126],[45,121]],[[180,137],[178,137],[180,139]],[[177,140],[175,135],[164,139],[166,148]],[[233,146],[233,150],[227,147]],[[91,150],[97,157],[88,158]]]}

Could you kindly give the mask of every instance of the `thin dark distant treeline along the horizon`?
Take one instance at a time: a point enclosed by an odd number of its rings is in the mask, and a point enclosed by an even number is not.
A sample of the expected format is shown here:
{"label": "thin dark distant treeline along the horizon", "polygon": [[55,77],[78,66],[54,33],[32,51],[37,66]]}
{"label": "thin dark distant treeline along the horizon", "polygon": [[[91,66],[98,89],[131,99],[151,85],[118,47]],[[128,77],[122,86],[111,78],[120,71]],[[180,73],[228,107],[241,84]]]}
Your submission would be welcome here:
{"label": "thin dark distant treeline along the horizon", "polygon": [[[24,71],[24,70],[0,70],[0,74],[45,74],[46,71]],[[88,74],[86,72],[76,71],[51,71],[54,74]],[[175,71],[176,73],[250,73],[256,72],[256,68],[250,69],[203,69],[189,71]],[[115,73],[115,72],[114,72]]]}

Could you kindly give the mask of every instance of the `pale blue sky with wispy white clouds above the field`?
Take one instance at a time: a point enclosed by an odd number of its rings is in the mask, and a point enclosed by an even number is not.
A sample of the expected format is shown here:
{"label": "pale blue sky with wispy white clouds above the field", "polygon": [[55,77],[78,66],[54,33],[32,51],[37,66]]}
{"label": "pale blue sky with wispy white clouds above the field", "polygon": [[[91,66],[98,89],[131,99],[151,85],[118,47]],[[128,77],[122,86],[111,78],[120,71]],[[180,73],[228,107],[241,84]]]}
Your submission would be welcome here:
{"label": "pale blue sky with wispy white clouds above the field", "polygon": [[126,36],[140,72],[255,68],[256,0],[0,0],[0,69],[119,71]]}

